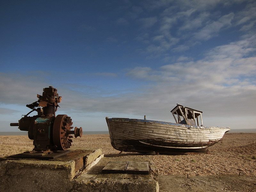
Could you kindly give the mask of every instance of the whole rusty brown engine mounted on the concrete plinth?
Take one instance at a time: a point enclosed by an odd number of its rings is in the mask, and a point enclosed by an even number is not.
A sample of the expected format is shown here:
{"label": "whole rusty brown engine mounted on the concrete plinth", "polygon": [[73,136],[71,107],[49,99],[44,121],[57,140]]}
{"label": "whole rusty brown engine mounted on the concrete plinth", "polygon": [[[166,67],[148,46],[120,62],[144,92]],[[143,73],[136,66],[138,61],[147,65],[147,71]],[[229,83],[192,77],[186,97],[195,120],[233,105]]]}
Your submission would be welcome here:
{"label": "whole rusty brown engine mounted on the concrete plinth", "polygon": [[[51,154],[56,151],[65,151],[70,148],[74,134],[76,137],[82,137],[82,127],[72,127],[72,119],[67,115],[57,115],[55,112],[60,107],[58,103],[61,97],[57,89],[49,86],[43,89],[43,94],[38,95],[38,100],[32,104],[26,105],[32,109],[27,115],[24,115],[19,123],[11,123],[11,126],[19,126],[21,131],[28,131],[28,137],[35,146],[30,153],[32,156],[42,156],[42,154]],[[36,111],[37,115],[28,116]],[[41,154],[41,155],[40,155]]]}

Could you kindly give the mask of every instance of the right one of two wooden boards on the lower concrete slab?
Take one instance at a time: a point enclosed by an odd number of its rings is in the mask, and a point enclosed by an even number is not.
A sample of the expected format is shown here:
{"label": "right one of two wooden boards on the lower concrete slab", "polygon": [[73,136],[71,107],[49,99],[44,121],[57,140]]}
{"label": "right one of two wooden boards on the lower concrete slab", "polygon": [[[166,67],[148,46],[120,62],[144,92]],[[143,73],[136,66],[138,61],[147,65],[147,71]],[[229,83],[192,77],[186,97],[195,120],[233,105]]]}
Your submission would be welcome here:
{"label": "right one of two wooden boards on the lower concrete slab", "polygon": [[129,161],[125,173],[127,174],[149,174],[147,161]]}

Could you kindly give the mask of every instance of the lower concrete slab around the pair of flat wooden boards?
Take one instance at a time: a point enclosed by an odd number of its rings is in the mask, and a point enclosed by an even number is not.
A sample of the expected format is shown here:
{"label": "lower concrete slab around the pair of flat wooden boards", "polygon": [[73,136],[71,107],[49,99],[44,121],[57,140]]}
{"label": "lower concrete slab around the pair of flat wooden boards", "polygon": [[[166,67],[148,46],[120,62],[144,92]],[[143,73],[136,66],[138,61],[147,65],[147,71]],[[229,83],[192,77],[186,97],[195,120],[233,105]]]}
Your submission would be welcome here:
{"label": "lower concrete slab around the pair of flat wooden boards", "polygon": [[[102,169],[110,161],[148,161],[149,174],[102,174]],[[149,157],[104,157],[87,172],[82,173],[75,181],[72,191],[132,191],[158,192],[158,170]]]}

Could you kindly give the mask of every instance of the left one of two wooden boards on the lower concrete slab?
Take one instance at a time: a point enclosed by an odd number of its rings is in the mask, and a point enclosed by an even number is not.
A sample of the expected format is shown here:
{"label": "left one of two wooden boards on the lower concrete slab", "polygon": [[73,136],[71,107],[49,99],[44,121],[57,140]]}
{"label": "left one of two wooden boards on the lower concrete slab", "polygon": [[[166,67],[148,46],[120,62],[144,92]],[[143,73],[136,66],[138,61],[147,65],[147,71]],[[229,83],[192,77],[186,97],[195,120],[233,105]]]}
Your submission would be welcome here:
{"label": "left one of two wooden boards on the lower concrete slab", "polygon": [[129,161],[110,161],[103,169],[102,173],[125,173]]}

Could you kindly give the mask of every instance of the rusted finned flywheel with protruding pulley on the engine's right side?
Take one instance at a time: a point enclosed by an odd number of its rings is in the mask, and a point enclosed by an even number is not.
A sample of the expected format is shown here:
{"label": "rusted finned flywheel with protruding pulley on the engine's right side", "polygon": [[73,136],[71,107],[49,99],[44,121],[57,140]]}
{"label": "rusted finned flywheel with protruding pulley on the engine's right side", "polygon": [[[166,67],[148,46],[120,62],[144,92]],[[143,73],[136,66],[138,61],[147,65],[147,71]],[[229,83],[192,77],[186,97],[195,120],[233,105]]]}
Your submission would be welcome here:
{"label": "rusted finned flywheel with protruding pulley on the engine's right side", "polygon": [[71,131],[74,127],[72,126],[72,119],[67,115],[57,115],[53,123],[53,143],[57,146],[57,150],[66,150],[70,148],[73,142],[70,134],[74,134],[75,137],[82,137],[82,127]]}

